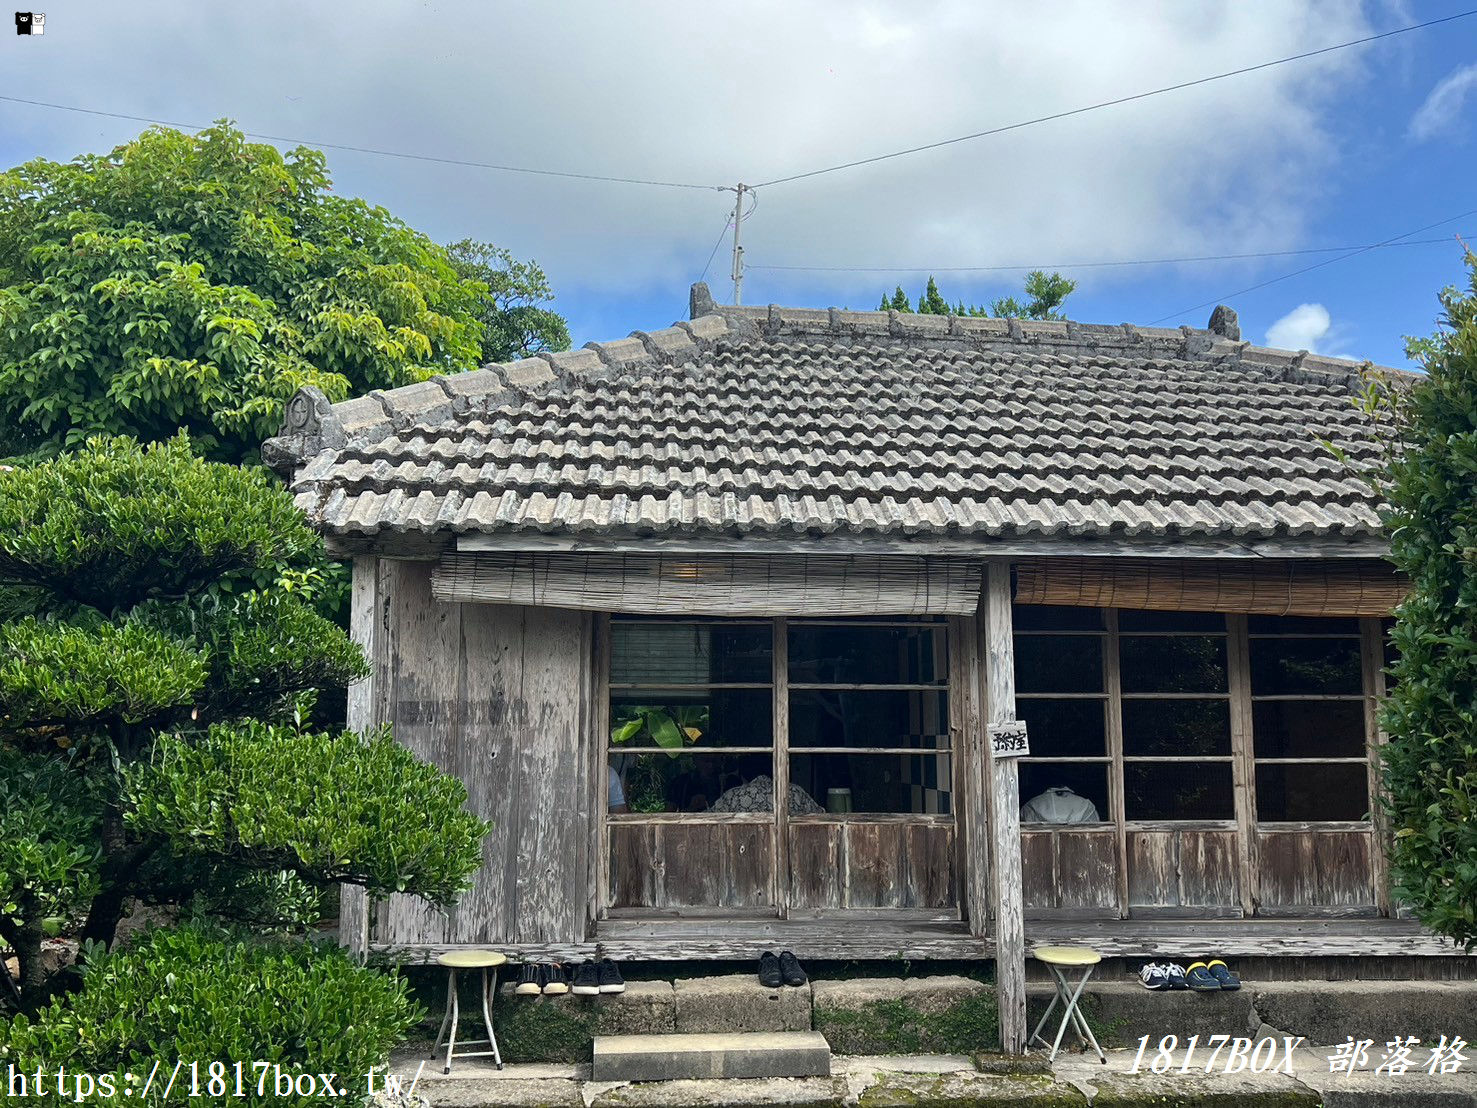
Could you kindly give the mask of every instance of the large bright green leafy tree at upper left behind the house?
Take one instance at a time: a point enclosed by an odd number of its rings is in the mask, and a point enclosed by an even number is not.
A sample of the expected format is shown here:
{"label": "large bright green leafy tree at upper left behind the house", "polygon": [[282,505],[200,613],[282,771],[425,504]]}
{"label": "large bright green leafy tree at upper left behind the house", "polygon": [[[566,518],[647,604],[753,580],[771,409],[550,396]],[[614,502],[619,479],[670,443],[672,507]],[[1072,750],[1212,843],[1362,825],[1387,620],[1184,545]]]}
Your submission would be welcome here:
{"label": "large bright green leafy tree at upper left behind the house", "polygon": [[334,195],[319,151],[226,123],[31,161],[0,174],[0,455],[185,428],[256,461],[301,386],[341,400],[474,368],[489,295]]}

